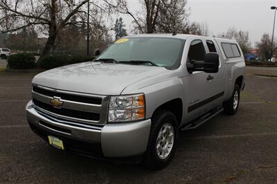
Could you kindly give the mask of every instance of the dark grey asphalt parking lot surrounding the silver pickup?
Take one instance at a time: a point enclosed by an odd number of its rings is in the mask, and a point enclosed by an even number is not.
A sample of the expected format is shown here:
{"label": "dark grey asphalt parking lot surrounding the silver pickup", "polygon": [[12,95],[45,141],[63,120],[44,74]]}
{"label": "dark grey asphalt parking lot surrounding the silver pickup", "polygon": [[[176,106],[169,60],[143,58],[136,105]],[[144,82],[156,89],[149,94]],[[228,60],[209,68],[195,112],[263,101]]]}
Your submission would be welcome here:
{"label": "dark grey asphalt parking lot surrounding the silver pickup", "polygon": [[153,172],[69,154],[35,136],[24,110],[34,75],[0,72],[0,183],[276,183],[277,77],[247,75],[238,113],[181,131],[172,163]]}

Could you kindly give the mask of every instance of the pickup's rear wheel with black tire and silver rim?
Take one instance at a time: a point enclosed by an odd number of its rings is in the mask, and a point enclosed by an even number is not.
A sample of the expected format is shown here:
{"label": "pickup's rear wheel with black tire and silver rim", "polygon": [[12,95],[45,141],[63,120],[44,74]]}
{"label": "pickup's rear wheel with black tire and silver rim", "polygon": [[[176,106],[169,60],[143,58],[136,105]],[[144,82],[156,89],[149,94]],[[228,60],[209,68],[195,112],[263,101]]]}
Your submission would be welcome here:
{"label": "pickup's rear wheel with black tire and silver rim", "polygon": [[234,115],[238,111],[238,105],[240,104],[240,86],[235,84],[235,89],[229,100],[223,102],[224,113],[227,115]]}

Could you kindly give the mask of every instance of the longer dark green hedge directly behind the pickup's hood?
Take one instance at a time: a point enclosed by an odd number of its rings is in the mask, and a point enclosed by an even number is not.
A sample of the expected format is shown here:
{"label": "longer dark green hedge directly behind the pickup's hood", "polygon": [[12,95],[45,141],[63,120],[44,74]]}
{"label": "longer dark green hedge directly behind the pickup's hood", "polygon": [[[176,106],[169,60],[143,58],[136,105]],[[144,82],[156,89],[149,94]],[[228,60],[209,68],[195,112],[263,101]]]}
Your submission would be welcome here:
{"label": "longer dark green hedge directly behind the pickup's hood", "polygon": [[47,55],[39,58],[37,66],[43,69],[51,69],[68,64],[80,62],[89,62],[93,60],[93,56],[80,55]]}

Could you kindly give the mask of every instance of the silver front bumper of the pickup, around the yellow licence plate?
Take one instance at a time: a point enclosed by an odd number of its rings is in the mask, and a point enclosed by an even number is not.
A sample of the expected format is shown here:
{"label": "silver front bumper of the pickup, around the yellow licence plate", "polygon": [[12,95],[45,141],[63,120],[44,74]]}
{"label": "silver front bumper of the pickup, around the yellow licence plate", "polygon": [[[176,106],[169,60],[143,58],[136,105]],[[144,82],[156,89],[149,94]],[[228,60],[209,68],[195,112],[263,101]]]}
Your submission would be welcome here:
{"label": "silver front bumper of the pickup, around the yellow licence plate", "polygon": [[138,156],[146,151],[151,120],[107,124],[98,129],[84,128],[55,122],[43,116],[33,107],[26,106],[27,120],[31,129],[47,140],[57,136],[65,149],[93,157],[120,158]]}

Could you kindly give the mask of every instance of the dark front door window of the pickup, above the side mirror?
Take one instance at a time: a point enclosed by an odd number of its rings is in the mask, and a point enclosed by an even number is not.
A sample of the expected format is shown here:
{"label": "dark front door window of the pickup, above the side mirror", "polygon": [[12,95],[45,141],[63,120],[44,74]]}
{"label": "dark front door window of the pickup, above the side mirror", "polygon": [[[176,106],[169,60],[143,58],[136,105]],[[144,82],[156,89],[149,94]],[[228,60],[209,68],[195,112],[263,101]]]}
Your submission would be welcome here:
{"label": "dark front door window of the pickup, above the side mirror", "polygon": [[190,44],[190,50],[188,51],[188,59],[190,61],[204,61],[205,59],[205,48],[201,40],[195,40]]}

